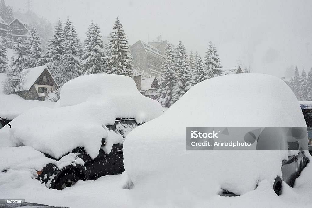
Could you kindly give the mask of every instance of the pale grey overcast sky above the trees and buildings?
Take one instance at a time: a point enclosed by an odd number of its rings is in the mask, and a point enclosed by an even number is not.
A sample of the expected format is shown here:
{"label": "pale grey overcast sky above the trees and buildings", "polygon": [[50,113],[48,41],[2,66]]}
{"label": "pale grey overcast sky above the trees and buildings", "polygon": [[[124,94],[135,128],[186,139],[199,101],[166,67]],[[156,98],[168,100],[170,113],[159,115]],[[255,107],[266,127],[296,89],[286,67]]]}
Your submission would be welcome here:
{"label": "pale grey overcast sky above the trees and buildings", "polygon": [[[217,46],[223,67],[251,66],[256,73],[284,76],[287,66],[312,67],[312,1],[103,1],[31,0],[32,10],[55,24],[67,16],[80,36],[97,22],[107,36],[118,16],[132,45],[162,34],[204,56],[209,41]],[[26,0],[6,0],[25,9]]]}

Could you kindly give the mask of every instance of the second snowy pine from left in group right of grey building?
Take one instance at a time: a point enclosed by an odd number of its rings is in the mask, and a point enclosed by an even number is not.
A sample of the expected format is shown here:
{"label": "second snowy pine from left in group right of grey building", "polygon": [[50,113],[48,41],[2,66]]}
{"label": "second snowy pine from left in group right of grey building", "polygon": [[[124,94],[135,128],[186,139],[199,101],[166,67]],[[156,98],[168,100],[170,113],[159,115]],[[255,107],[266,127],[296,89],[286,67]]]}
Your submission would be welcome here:
{"label": "second snowy pine from left in group right of grey building", "polygon": [[182,42],[179,41],[173,60],[176,86],[174,88],[171,104],[180,99],[191,87],[191,73],[185,53],[185,47]]}

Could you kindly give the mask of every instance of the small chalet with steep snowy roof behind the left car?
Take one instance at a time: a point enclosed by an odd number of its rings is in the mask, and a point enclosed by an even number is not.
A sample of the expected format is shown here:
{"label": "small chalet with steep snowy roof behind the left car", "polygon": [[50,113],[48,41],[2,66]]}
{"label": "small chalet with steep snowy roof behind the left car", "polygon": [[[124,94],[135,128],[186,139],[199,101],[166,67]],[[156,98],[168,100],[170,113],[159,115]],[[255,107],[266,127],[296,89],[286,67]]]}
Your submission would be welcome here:
{"label": "small chalet with steep snowy roof behind the left car", "polygon": [[24,69],[22,75],[23,79],[16,86],[15,93],[26,100],[45,101],[48,91],[56,89],[56,82],[46,66]]}

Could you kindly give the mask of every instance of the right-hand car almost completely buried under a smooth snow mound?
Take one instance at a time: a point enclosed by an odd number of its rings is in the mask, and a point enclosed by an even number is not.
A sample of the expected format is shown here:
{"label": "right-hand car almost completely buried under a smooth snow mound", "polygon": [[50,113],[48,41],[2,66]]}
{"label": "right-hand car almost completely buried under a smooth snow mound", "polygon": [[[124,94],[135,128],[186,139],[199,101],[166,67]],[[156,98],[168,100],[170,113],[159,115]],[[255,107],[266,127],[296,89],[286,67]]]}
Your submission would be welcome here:
{"label": "right-hand car almost completely buried under a smooth snow mound", "polygon": [[[253,143],[189,150],[189,128],[207,128],[206,133],[220,129],[218,138],[200,142],[246,142],[252,135]],[[251,134],[252,129],[258,133]],[[260,148],[263,144],[266,148]],[[239,196],[262,181],[280,195],[282,186],[294,186],[311,161],[307,150],[307,127],[292,90],[271,75],[235,74],[194,85],[162,116],[129,133],[124,167],[136,191],[157,187],[164,193],[157,197],[180,193],[174,196],[180,199],[187,191],[205,197]]]}

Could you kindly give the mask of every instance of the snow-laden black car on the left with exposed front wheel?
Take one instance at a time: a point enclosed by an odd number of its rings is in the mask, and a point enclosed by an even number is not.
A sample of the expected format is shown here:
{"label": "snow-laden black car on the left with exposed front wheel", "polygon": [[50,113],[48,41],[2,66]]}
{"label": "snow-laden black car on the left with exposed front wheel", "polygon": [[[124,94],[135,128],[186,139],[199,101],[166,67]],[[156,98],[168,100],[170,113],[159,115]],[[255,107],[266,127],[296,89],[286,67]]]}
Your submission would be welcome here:
{"label": "snow-laden black car on the left with exposed front wheel", "polygon": [[[63,85],[55,108],[32,108],[13,119],[12,128],[0,129],[0,148],[16,152],[14,158],[29,157],[27,169],[34,177],[62,190],[80,179],[122,173],[125,136],[162,113],[162,106],[140,94],[130,77],[85,75]],[[9,161],[9,153],[1,160]],[[38,155],[45,157],[34,165]],[[0,171],[21,167],[6,162]]]}

